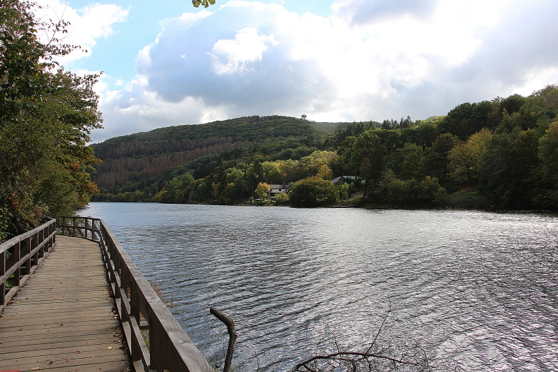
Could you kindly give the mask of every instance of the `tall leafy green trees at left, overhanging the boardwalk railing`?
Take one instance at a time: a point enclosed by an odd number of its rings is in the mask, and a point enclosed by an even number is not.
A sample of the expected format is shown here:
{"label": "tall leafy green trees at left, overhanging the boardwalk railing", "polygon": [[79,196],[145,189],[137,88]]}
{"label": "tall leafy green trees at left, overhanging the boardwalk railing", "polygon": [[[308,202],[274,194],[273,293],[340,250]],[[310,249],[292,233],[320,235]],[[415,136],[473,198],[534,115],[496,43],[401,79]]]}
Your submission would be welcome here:
{"label": "tall leafy green trees at left, overhanging the boardwalk railing", "polygon": [[53,58],[76,47],[61,43],[64,22],[39,22],[34,8],[0,0],[0,241],[83,207],[97,192],[89,170],[98,159],[86,146],[101,122],[97,76],[57,66]]}

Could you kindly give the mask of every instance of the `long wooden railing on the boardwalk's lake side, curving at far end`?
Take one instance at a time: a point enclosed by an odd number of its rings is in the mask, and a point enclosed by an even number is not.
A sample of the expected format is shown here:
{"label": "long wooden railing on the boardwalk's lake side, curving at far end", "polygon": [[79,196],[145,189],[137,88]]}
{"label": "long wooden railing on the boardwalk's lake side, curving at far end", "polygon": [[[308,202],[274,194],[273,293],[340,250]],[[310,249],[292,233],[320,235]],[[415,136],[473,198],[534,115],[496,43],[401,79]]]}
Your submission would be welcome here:
{"label": "long wooden railing on the boardwalk's lake side, curving at far end", "polygon": [[61,218],[63,235],[100,243],[135,371],[213,372],[103,220]]}

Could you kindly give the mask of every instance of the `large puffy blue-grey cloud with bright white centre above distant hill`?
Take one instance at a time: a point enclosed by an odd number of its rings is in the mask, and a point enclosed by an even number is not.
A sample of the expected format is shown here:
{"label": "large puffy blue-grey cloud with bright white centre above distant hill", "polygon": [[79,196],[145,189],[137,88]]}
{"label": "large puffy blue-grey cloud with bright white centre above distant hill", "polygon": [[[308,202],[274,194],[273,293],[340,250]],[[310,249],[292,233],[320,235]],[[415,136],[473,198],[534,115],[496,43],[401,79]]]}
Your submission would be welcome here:
{"label": "large puffy blue-grey cloud with bright white centre above distant hill", "polygon": [[194,23],[191,16],[169,22],[142,52],[138,72],[165,101],[192,96],[241,111],[302,109],[310,96],[333,89],[312,68],[317,57],[296,51],[292,27],[302,23],[282,6],[232,1]]}

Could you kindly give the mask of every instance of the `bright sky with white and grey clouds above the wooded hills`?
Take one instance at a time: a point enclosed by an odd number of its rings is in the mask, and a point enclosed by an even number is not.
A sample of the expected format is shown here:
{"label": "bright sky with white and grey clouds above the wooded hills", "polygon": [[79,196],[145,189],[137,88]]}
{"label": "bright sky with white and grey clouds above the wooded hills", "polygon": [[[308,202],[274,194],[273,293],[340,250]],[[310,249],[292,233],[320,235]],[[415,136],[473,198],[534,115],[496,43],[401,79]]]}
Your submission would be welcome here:
{"label": "bright sky with white and grey clouds above the wooded hills", "polygon": [[382,121],[558,83],[555,0],[38,0],[100,73],[92,142],[252,115]]}

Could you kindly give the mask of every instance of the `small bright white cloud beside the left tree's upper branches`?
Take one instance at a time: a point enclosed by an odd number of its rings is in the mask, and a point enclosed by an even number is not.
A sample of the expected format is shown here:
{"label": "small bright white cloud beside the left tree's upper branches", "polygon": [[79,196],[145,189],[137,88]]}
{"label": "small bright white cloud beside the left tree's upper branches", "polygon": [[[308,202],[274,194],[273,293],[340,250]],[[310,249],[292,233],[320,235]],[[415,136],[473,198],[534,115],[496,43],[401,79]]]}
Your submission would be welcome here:
{"label": "small bright white cloud beside the left tree's upper branches", "polygon": [[[91,53],[99,38],[106,38],[115,32],[113,28],[115,23],[126,21],[130,10],[114,4],[100,3],[74,9],[63,0],[38,0],[37,3],[41,8],[35,13],[41,20],[45,22],[51,20],[54,23],[60,20],[70,22],[66,27],[68,33],[56,37],[62,38],[63,43],[80,45],[82,48],[81,51],[77,50],[66,56],[57,57],[57,60],[65,65]],[[44,34],[41,37],[49,40],[52,34]]]}

